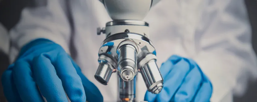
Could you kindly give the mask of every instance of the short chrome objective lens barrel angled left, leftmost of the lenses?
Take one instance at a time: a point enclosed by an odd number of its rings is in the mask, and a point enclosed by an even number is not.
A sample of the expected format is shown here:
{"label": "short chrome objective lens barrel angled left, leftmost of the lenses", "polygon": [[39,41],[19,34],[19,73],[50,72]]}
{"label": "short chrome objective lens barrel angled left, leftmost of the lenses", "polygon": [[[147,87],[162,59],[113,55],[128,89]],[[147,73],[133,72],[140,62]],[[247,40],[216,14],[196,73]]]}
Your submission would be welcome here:
{"label": "short chrome objective lens barrel angled left, leftmost of the lenses", "polygon": [[99,66],[95,73],[95,79],[104,85],[108,84],[112,73],[116,72],[117,62],[110,57],[111,56],[102,54],[98,59]]}

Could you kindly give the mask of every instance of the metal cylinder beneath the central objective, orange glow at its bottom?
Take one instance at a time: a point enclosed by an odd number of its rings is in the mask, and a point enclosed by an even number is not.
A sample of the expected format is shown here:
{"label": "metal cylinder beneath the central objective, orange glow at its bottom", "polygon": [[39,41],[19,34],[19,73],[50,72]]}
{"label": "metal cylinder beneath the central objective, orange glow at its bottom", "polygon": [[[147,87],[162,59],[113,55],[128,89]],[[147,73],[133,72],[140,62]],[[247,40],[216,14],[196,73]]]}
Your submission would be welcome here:
{"label": "metal cylinder beneath the central objective, orange glow at its bottom", "polygon": [[[119,75],[118,75],[119,76]],[[134,102],[136,98],[136,82],[137,76],[130,81],[124,81],[118,77],[118,101],[119,102]]]}

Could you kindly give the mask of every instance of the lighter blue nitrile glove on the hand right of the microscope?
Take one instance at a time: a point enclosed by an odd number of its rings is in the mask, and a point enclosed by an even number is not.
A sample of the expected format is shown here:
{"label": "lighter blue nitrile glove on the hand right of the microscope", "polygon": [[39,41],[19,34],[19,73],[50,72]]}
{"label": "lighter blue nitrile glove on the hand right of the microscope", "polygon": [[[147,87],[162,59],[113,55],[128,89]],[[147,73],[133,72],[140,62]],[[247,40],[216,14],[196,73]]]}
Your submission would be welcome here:
{"label": "lighter blue nitrile glove on the hand right of the microscope", "polygon": [[171,56],[160,68],[164,79],[162,91],[145,93],[148,102],[209,102],[212,84],[192,59]]}

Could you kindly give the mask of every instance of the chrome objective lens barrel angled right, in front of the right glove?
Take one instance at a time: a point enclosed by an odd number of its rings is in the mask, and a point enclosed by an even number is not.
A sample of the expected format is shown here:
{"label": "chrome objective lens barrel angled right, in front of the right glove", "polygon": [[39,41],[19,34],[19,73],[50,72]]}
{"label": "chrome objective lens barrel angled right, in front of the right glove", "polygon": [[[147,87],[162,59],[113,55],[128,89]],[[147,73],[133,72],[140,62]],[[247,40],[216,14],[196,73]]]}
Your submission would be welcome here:
{"label": "chrome objective lens barrel angled right, in front of the right glove", "polygon": [[142,51],[139,55],[138,69],[149,92],[158,94],[163,88],[163,78],[156,64],[156,56]]}

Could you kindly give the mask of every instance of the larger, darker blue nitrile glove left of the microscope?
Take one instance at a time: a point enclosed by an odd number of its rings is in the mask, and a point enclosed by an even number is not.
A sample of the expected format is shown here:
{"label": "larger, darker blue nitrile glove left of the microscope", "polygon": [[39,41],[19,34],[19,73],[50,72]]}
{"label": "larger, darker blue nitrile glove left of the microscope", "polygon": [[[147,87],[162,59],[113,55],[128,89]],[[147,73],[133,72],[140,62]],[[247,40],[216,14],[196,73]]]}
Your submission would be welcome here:
{"label": "larger, darker blue nitrile glove left of the microscope", "polygon": [[[9,102],[103,102],[99,89],[81,72],[64,49],[47,39],[25,45],[2,75]],[[41,92],[41,93],[40,93]]]}

